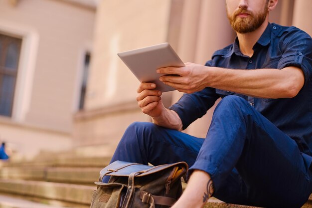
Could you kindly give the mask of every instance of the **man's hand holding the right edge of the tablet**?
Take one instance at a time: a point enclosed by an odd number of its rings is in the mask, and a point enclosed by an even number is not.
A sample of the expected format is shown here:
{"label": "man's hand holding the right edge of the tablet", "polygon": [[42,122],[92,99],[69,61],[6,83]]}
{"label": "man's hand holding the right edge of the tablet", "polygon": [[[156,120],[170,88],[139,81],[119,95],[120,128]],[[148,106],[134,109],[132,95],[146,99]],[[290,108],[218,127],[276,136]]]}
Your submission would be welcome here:
{"label": "man's hand holding the right edge of the tablet", "polygon": [[159,78],[164,84],[180,92],[193,93],[207,87],[208,70],[200,64],[185,63],[184,67],[159,68],[157,73],[166,74]]}

